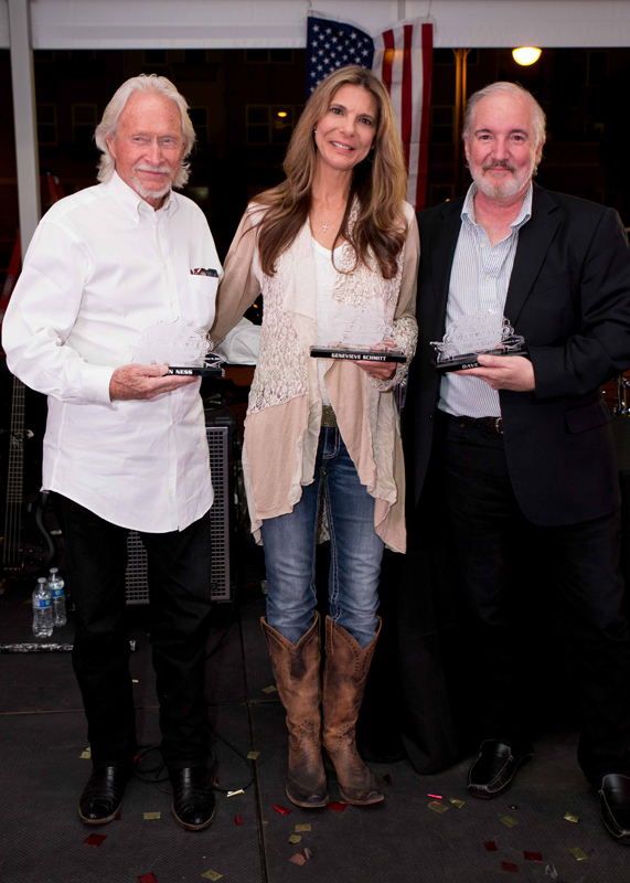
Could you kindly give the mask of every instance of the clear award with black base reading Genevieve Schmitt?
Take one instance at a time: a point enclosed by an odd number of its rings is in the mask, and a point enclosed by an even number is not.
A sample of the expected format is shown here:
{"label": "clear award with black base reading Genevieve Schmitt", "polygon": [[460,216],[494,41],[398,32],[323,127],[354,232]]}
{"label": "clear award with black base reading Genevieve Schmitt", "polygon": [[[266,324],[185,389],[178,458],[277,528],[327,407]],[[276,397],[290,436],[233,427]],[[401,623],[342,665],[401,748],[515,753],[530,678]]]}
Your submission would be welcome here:
{"label": "clear award with black base reading Genevieve Schmitt", "polygon": [[348,359],[365,362],[406,362],[404,352],[387,341],[394,337],[393,322],[373,307],[339,305],[319,331],[310,354],[314,359]]}

